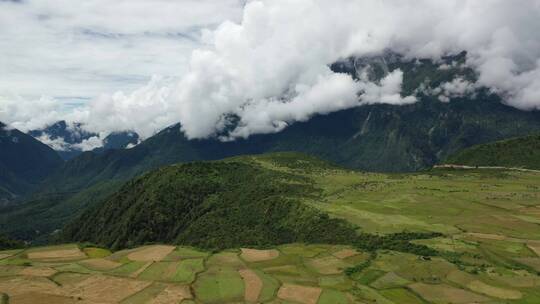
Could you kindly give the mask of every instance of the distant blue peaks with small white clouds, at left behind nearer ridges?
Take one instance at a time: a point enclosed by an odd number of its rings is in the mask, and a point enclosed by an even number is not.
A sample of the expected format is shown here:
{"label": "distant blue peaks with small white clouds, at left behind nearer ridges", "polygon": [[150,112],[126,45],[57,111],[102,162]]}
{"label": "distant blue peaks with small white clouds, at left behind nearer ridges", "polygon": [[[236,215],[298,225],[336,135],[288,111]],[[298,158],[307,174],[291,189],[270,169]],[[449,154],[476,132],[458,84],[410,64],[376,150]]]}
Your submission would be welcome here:
{"label": "distant blue peaks with small white clouds, at left behind nearer ridges", "polygon": [[85,147],[85,142],[99,135],[84,130],[79,123],[68,124],[63,120],[41,130],[32,130],[28,134],[56,150],[64,160],[79,156],[83,150],[94,150],[99,153],[110,149],[124,149],[139,142],[137,133],[124,131],[109,134],[103,139],[102,147],[95,149],[91,146]]}

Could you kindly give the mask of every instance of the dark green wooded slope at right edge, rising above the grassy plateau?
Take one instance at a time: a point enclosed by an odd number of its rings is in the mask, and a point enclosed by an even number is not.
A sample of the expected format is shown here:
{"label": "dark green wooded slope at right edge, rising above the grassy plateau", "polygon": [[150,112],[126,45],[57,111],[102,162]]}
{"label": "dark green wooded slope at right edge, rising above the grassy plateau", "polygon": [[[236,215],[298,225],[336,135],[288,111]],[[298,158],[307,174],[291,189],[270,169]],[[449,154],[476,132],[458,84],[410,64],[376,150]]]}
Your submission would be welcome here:
{"label": "dark green wooded slope at right edge, rising above the grassy plateau", "polygon": [[450,156],[445,163],[540,170],[540,135],[476,145]]}

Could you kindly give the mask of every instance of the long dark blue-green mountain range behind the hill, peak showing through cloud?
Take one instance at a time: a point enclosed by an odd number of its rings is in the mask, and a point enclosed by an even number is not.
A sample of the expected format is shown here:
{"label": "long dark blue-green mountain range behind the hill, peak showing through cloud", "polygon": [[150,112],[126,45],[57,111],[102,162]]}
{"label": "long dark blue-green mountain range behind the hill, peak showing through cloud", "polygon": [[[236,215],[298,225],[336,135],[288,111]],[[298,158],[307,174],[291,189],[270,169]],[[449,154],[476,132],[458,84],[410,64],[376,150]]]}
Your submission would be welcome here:
{"label": "long dark blue-green mountain range behind the hill, peak showing through cloud", "polygon": [[[497,95],[452,96],[441,102],[429,89],[452,79],[473,79],[461,67],[464,54],[443,63],[383,58],[349,58],[332,68],[358,77],[366,66],[380,78],[399,68],[405,94],[424,88],[414,104],[374,104],[317,115],[282,132],[221,142],[189,140],[180,125],[162,130],[131,149],[84,152],[67,161],[25,204],[0,210],[0,231],[34,239],[59,229],[86,208],[114,193],[130,178],[174,163],[217,160],[267,152],[297,151],[359,170],[406,172],[430,168],[464,148],[540,132],[540,111],[507,106]],[[441,68],[443,65],[447,67]],[[355,76],[356,75],[356,76]]]}

